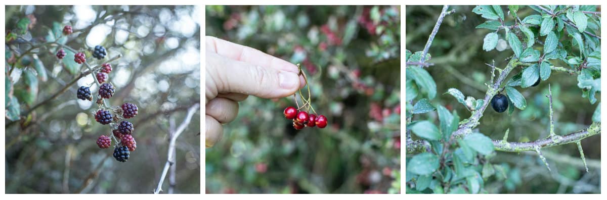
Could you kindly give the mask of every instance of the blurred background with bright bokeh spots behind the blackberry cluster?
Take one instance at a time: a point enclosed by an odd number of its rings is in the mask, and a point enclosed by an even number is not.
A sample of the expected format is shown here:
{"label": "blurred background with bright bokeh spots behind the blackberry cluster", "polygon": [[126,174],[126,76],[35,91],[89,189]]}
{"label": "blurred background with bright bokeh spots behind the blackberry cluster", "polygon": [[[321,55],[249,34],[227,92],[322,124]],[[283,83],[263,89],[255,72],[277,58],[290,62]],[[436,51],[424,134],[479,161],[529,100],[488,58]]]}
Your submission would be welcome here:
{"label": "blurred background with bright bokeh spots behind the blackberry cluster", "polygon": [[[181,124],[186,110],[200,102],[199,9],[7,5],[6,192],[151,193],[167,159],[169,127]],[[72,25],[74,33],[61,37],[64,25]],[[116,92],[106,101],[112,106],[132,102],[139,108],[129,120],[135,125],[137,150],[127,162],[115,161],[114,147],[95,144],[98,136],[111,134],[110,127],[95,121],[97,104],[76,99],[81,85],[93,83],[92,75],[69,86],[86,67],[74,65],[67,49],[63,62],[57,59],[56,45],[46,43],[55,39],[86,52],[93,66],[123,56],[111,62],[109,81]],[[93,59],[86,50],[95,45],[107,48],[105,59]],[[45,102],[66,86],[65,93]],[[95,96],[97,88],[92,84]],[[177,140],[174,167],[172,192],[200,193],[200,112]]]}

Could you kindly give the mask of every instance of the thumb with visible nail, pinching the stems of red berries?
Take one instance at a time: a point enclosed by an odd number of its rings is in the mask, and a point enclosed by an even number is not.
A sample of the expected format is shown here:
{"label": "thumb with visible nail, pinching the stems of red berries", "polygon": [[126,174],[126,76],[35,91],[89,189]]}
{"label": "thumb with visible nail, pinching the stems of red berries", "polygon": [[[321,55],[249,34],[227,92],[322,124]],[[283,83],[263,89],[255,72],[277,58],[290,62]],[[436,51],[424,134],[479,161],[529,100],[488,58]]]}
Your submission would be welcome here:
{"label": "thumb with visible nail, pinching the stems of red berries", "polygon": [[293,95],[300,87],[300,78],[295,72],[226,59],[213,52],[206,54],[206,87],[215,87],[219,93],[282,98]]}

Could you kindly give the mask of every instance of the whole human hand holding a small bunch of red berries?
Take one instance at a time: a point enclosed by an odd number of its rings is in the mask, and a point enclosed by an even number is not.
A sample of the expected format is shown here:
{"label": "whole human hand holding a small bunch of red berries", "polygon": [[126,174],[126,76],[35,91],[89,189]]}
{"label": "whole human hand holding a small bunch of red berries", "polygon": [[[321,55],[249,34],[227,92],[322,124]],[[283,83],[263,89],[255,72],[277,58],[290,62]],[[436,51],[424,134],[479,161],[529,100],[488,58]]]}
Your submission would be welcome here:
{"label": "whole human hand holding a small bunch of red berries", "polygon": [[238,102],[249,95],[283,98],[304,87],[296,65],[251,47],[206,36],[206,147],[223,136],[223,126],[236,118]]}

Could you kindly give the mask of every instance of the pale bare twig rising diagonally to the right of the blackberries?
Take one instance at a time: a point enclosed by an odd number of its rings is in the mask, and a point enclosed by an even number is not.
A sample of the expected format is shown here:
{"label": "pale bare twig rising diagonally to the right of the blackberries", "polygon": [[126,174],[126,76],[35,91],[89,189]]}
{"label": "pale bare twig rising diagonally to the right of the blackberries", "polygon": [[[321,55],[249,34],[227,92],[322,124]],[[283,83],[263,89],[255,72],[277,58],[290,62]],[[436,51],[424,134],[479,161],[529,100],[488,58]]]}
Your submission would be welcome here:
{"label": "pale bare twig rising diagonally to the right of the blackberries", "polygon": [[175,164],[175,142],[177,141],[179,135],[181,135],[186,127],[188,127],[189,122],[191,121],[192,116],[194,116],[194,113],[196,113],[198,110],[198,107],[200,107],[200,104],[194,104],[192,107],[188,108],[188,114],[186,114],[185,119],[183,119],[183,122],[181,122],[179,127],[177,127],[175,134],[169,138],[169,153],[167,154],[166,164],[164,164],[164,169],[162,170],[160,181],[158,181],[158,186],[154,189],[154,194],[158,194],[162,190],[162,183],[164,182],[164,178],[169,171],[169,167]]}

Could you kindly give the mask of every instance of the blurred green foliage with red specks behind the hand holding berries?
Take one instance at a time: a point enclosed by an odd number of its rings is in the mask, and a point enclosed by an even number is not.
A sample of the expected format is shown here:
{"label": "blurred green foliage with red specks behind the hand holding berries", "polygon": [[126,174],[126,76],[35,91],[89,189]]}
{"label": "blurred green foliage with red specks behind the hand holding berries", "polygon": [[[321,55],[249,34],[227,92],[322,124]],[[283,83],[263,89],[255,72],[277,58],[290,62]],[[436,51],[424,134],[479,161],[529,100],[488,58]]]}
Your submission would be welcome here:
{"label": "blurred green foliage with red specks behind the hand holding berries", "polygon": [[[240,102],[206,149],[206,193],[399,193],[400,7],[206,7],[206,35],[301,63],[328,126],[296,131],[293,98]],[[304,95],[305,96],[305,95]]]}

